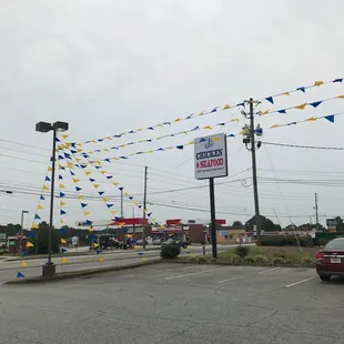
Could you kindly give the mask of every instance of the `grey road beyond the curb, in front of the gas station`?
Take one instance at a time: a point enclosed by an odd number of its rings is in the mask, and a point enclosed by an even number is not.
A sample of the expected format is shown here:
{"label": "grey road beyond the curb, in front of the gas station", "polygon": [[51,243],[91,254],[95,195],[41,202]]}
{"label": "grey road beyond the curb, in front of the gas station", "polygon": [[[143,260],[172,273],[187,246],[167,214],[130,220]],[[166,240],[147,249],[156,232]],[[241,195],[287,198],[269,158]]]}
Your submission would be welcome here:
{"label": "grey road beyond the curb, in front of the gas station", "polygon": [[[235,246],[235,245],[234,245]],[[233,245],[219,245],[219,250],[227,250]],[[211,254],[211,246],[206,245],[206,253]],[[130,251],[111,251],[104,254],[88,254],[68,256],[68,263],[61,264],[61,257],[53,257],[52,261],[57,265],[57,273],[59,272],[71,272],[81,271],[88,269],[102,269],[107,266],[120,266],[128,265],[130,263],[141,262],[142,257],[146,261],[156,260],[160,257],[160,249],[156,251],[144,251],[142,255],[139,252],[143,252],[142,247]],[[181,256],[191,254],[202,254],[202,246],[189,246],[188,250],[182,250]],[[103,257],[104,262],[100,264],[99,257]],[[14,280],[17,273],[20,271],[26,277],[40,276],[42,273],[42,265],[47,262],[47,257],[37,260],[27,260],[27,266],[21,266],[21,261],[1,261],[0,260],[0,283]]]}

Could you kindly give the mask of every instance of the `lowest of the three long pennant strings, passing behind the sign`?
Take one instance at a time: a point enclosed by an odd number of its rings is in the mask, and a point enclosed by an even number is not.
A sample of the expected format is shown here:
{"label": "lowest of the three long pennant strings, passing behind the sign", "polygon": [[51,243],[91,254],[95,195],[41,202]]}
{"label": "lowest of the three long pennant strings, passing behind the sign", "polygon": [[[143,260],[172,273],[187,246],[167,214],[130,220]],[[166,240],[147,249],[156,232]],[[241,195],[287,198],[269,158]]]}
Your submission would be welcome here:
{"label": "lowest of the three long pennant strings, passing behind the sign", "polygon": [[[284,124],[273,124],[271,127],[269,127],[267,129],[274,129],[274,128],[279,128],[279,127],[286,127],[286,125],[292,125],[292,124],[297,124],[297,123],[303,123],[303,122],[311,122],[311,121],[315,121],[317,119],[326,119],[327,121],[334,123],[334,117],[340,115],[342,113],[335,113],[335,114],[328,114],[328,115],[324,115],[324,117],[311,117],[306,120],[302,120],[302,121],[296,121],[296,122],[290,122],[290,123],[284,123]],[[235,138],[237,135],[244,135],[246,133],[246,128],[243,128],[243,130],[236,134],[226,134],[227,138]],[[77,160],[77,166],[81,166],[83,169],[85,169],[89,164],[98,164],[101,165],[102,162],[108,162],[111,163],[112,161],[119,161],[119,160],[127,160],[131,156],[134,155],[141,155],[141,154],[150,154],[150,153],[155,153],[155,152],[164,152],[164,151],[170,151],[170,150],[179,150],[179,151],[183,151],[184,148],[186,148],[188,145],[193,145],[194,141],[190,141],[188,143],[183,143],[183,144],[178,144],[178,145],[171,145],[171,146],[165,146],[165,148],[159,148],[155,150],[151,150],[151,151],[140,151],[140,152],[135,152],[135,153],[131,153],[128,155],[122,155],[122,156],[109,156],[102,160],[93,160],[94,158],[92,158],[92,154],[87,154],[87,153],[82,153],[81,156],[83,156],[84,161],[82,161],[82,159],[75,158]],[[65,160],[65,159],[71,159],[70,155],[67,156],[62,156],[61,155],[61,160]]]}

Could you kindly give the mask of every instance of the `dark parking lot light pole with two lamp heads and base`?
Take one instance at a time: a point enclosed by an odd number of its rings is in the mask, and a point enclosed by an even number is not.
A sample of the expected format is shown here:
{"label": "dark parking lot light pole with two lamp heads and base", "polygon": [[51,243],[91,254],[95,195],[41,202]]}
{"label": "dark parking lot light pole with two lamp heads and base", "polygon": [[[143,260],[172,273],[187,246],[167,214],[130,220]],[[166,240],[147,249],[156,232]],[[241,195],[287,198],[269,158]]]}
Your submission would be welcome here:
{"label": "dark parking lot light pole with two lamp heads and base", "polygon": [[49,240],[48,240],[48,262],[42,266],[43,276],[53,276],[55,274],[55,265],[51,262],[51,234],[53,226],[53,198],[54,198],[54,174],[55,174],[55,150],[57,150],[57,132],[67,131],[69,124],[65,122],[54,122],[53,124],[47,122],[39,122],[36,124],[36,131],[47,133],[53,132],[52,139],[52,156],[51,156],[51,192],[50,192],[50,216],[49,216]]}

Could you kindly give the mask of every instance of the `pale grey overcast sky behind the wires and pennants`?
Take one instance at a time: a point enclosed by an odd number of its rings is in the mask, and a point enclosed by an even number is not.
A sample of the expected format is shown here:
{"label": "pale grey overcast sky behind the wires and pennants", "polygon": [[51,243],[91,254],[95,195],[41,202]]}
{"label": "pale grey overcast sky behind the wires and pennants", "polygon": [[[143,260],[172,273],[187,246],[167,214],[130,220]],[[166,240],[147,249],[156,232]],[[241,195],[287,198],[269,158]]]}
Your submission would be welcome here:
{"label": "pale grey overcast sky behind the wires and pennants", "polygon": [[[2,224],[19,223],[22,210],[30,212],[26,226],[32,223],[52,140],[51,134],[34,131],[38,121],[68,121],[68,140],[83,142],[344,77],[343,1],[11,0],[2,1],[0,9],[0,139],[11,142],[0,141],[0,190],[13,191],[12,195],[0,193]],[[343,83],[325,84],[276,98],[274,105],[263,101],[256,110],[279,110],[340,94],[344,94]],[[343,105],[344,100],[337,99],[316,109],[257,118],[264,129],[262,140],[344,146],[341,115],[335,123],[318,120],[269,129],[341,112]],[[237,134],[245,123],[240,110],[219,111],[84,149],[105,149],[233,118],[240,122],[98,156],[183,144],[221,131]],[[246,221],[254,206],[250,152],[241,135],[229,138],[227,144],[230,176],[216,180],[227,182],[216,186],[216,216],[231,223]],[[343,154],[263,145],[257,151],[261,213],[283,225],[308,222],[310,216],[314,222],[316,192],[323,224],[328,216],[344,215],[343,189],[337,186],[343,181]],[[192,145],[103,165],[139,201],[144,165],[149,166],[149,209],[158,221],[210,217],[208,188],[190,189],[206,184],[194,180]],[[104,195],[119,196],[114,185],[92,171]],[[60,174],[65,190],[73,191],[68,170]],[[109,210],[87,176],[78,169],[75,174],[81,180],[80,194],[94,196],[87,200],[89,219],[109,219]],[[188,190],[180,191],[183,188]],[[64,201],[65,222],[83,221],[79,201]],[[114,204],[119,212],[120,203]],[[49,198],[42,205],[39,215],[48,220]],[[127,201],[124,213],[142,215]],[[57,224],[59,220],[57,202]]]}

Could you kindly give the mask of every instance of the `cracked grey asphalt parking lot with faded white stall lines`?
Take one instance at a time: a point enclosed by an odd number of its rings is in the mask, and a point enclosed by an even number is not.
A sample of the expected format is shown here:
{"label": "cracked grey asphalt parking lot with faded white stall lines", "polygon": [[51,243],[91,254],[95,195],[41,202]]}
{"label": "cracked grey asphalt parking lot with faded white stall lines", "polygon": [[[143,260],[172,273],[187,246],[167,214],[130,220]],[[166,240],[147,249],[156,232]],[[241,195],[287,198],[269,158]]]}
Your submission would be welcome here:
{"label": "cracked grey asphalt parking lot with faded white stall lines", "polygon": [[313,269],[165,264],[0,286],[0,343],[343,343],[344,282]]}

